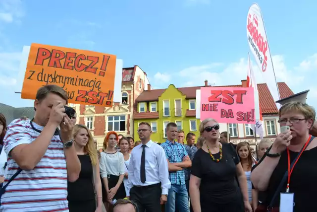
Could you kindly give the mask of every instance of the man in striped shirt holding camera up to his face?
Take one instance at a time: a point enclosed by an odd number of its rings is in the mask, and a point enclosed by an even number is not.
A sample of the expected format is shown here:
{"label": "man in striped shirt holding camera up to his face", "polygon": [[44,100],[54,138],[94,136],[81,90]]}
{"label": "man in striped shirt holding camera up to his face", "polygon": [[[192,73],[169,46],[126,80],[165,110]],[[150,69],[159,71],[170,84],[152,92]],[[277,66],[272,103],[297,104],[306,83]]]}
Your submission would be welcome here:
{"label": "man in striped shirt holding camera up to his face", "polygon": [[[34,101],[35,117],[16,119],[4,138],[8,154],[0,211],[68,212],[67,180],[81,169],[73,140],[73,124],[65,113],[66,92],[57,85],[41,87]],[[60,129],[60,130],[59,130]]]}

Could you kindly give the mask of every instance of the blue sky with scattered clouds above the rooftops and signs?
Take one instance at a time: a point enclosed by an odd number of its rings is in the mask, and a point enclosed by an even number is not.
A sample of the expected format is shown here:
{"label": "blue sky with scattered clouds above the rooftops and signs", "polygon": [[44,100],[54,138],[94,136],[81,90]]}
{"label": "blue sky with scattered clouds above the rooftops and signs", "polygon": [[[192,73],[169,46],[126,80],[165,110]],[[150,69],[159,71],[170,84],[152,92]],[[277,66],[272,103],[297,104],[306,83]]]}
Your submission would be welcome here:
{"label": "blue sky with scattered clouds above the rooftops and signs", "polygon": [[[89,3],[87,3],[89,2]],[[14,94],[24,45],[49,44],[117,55],[138,65],[154,88],[240,84],[246,79],[246,21],[252,0],[1,0],[0,102]],[[316,4],[259,0],[277,81],[311,89],[317,106]],[[255,64],[255,63],[254,63]],[[257,82],[261,81],[259,70]],[[197,74],[193,74],[197,71]]]}

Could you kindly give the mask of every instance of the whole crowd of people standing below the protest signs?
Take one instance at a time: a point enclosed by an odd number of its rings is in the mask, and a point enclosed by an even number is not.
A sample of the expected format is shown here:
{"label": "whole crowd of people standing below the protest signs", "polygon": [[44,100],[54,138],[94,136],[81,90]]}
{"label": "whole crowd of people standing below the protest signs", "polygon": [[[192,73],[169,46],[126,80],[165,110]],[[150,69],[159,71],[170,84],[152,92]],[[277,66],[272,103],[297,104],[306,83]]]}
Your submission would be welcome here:
{"label": "whole crowd of people standing below the protest signs", "polygon": [[294,212],[314,211],[317,128],[307,104],[283,105],[289,130],[256,150],[209,118],[199,138],[171,122],[158,143],[141,122],[140,141],[108,132],[101,151],[66,104],[66,92],[47,85],[33,119],[8,124],[0,113],[1,212],[278,212],[284,193]]}

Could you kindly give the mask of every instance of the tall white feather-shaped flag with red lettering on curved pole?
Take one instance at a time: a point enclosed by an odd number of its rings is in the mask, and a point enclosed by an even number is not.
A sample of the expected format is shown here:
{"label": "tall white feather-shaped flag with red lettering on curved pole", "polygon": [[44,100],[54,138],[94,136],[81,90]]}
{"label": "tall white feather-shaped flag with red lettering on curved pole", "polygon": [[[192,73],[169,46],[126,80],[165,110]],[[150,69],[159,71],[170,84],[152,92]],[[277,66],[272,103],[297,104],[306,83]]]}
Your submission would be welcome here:
{"label": "tall white feather-shaped flag with red lettering on curved pole", "polygon": [[[274,99],[280,99],[278,86],[273,69],[271,53],[268,47],[264,21],[258,4],[252,4],[247,18],[247,37],[252,54],[262,72],[265,83]],[[280,104],[275,103],[277,109]]]}

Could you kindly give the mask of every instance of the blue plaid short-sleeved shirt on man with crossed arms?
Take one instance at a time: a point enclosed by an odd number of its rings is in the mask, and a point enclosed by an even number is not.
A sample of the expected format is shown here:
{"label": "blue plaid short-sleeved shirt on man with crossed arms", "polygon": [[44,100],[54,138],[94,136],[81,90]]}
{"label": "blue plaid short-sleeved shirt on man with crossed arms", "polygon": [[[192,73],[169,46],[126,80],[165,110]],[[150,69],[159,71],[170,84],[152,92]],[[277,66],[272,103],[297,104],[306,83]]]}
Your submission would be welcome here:
{"label": "blue plaid short-sleeved shirt on man with crossed arms", "polygon": [[[176,141],[172,143],[166,140],[160,146],[163,147],[166,158],[170,163],[181,163],[184,157],[188,155],[185,146]],[[170,171],[169,180],[173,185],[185,185],[185,171]]]}

